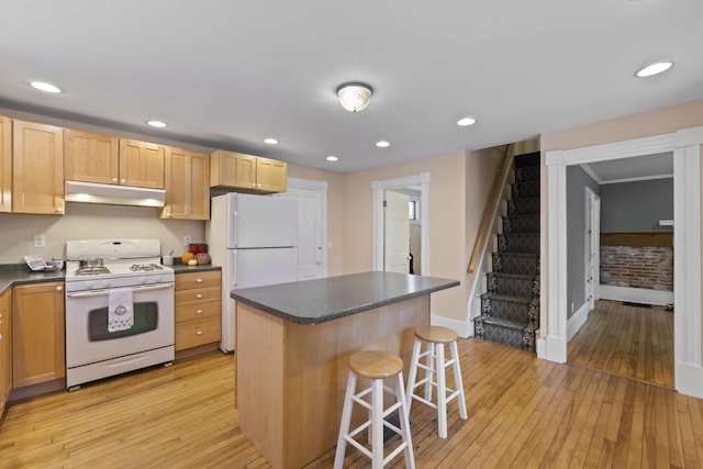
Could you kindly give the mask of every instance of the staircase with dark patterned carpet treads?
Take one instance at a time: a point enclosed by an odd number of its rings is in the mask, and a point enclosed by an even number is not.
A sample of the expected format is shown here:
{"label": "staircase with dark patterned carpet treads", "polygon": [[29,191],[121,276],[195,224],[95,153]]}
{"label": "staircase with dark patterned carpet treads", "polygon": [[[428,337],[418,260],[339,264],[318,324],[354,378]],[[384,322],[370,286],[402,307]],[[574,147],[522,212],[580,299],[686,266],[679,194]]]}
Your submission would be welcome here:
{"label": "staircase with dark patterned carpet treads", "polygon": [[493,243],[476,336],[535,350],[539,328],[539,153],[515,157],[510,200]]}

